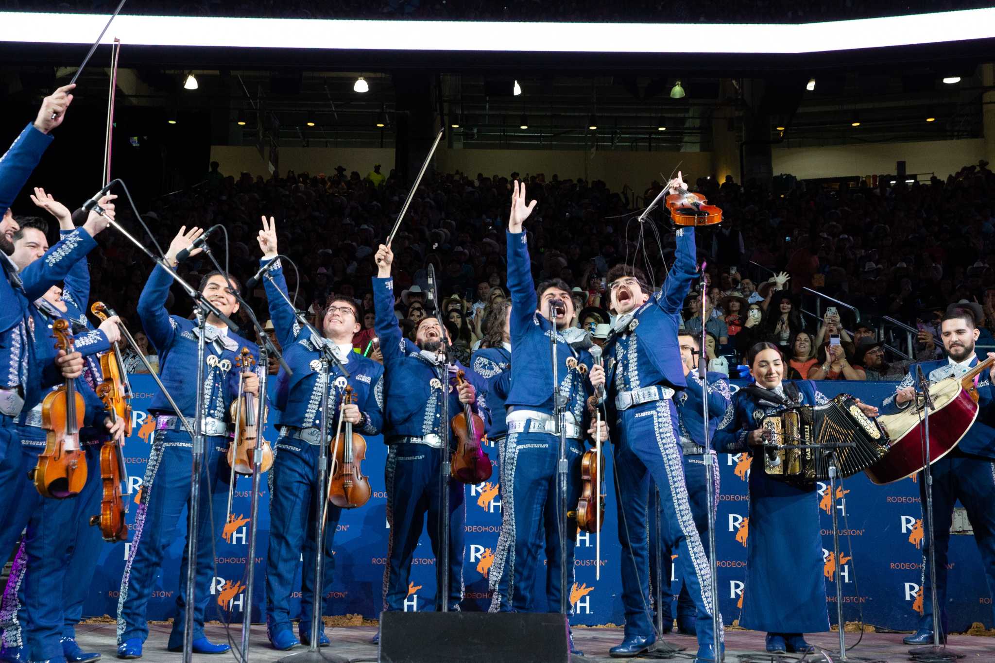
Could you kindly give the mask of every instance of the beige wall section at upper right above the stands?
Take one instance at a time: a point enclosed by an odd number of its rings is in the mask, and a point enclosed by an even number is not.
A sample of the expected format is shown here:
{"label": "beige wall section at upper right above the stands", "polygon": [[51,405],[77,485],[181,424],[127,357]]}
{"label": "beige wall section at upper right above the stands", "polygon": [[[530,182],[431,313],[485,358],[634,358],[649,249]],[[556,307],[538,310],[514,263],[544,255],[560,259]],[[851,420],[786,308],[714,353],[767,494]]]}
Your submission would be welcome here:
{"label": "beige wall section at upper right above the stands", "polygon": [[790,173],[798,179],[894,174],[896,161],[905,162],[906,173],[935,172],[936,177],[945,179],[983,158],[983,138],[773,150],[774,174]]}

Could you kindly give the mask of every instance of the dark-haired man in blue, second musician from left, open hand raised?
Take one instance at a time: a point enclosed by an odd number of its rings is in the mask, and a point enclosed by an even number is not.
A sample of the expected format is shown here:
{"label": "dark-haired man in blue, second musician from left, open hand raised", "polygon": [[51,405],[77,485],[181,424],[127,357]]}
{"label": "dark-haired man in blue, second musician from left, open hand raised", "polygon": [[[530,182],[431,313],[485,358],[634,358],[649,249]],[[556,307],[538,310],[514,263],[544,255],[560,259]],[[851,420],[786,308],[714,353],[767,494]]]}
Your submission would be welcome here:
{"label": "dark-haired man in blue, second musician from left, open hand raised", "polygon": [[[108,214],[112,216],[113,205],[107,203],[107,206],[110,209]],[[69,226],[72,227],[72,220]],[[47,228],[48,224],[37,218],[22,222],[21,228],[14,234],[14,253],[11,256],[19,267],[27,267],[48,249],[45,239]],[[66,235],[73,232],[75,229],[68,230]],[[89,295],[89,279],[81,281],[79,278],[81,267],[84,270],[87,268],[85,257],[66,275],[68,283],[77,286],[77,297]],[[66,287],[65,292],[68,292],[70,286]],[[22,445],[22,471],[16,477],[20,486],[19,499],[13,503],[5,527],[11,526],[20,531],[26,525],[27,536],[18,550],[15,567],[4,592],[10,613],[3,624],[2,655],[8,661],[47,660],[64,656],[67,659],[95,660],[94,654],[86,654],[76,645],[73,631],[66,636],[64,629],[67,621],[70,621],[70,629],[79,621],[89,589],[89,585],[81,579],[90,578],[90,570],[79,568],[75,548],[83,544],[81,557],[91,556],[91,568],[95,561],[93,557],[100,548],[100,530],[92,528],[93,532],[90,532],[85,528],[90,516],[100,512],[100,444],[110,424],[94,391],[97,383],[94,382],[91,359],[94,354],[109,349],[119,332],[113,320],[102,324],[100,329],[89,330],[86,315],[77,307],[74,297],[64,297],[64,289],[53,285],[32,307],[34,356],[42,363],[48,363],[56,356],[52,329],[59,319],[65,319],[76,327],[73,330],[75,346],[85,360],[84,374],[74,383],[86,405],[86,427],[80,431],[80,443],[88,465],[87,482],[73,499],[46,499],[35,490],[28,476],[46,449],[48,430],[42,427],[42,404],[22,412],[17,423]],[[97,375],[100,376],[99,368]],[[121,420],[112,427],[112,434],[118,435],[119,440],[123,439],[124,424]],[[103,428],[102,432],[97,429],[98,425]],[[93,533],[97,536],[96,550],[89,540]],[[69,576],[70,569],[76,569],[79,575]],[[72,614],[79,613],[79,616],[69,619],[70,609]],[[99,657],[97,654],[96,658]]]}

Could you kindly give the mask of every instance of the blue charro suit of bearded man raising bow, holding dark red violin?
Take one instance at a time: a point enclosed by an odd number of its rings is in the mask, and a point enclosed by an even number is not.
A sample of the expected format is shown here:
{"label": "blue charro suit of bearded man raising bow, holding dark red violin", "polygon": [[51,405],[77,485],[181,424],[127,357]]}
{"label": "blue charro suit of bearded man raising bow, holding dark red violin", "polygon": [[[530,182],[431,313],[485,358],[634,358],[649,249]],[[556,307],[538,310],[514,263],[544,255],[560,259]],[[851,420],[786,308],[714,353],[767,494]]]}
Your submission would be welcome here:
{"label": "blue charro suit of bearded man raising bow, holding dark red violin", "polygon": [[[389,445],[384,469],[387,487],[387,568],[383,574],[383,609],[401,610],[408,595],[408,578],[418,539],[422,535],[426,514],[432,553],[439,559],[438,527],[442,494],[439,471],[443,440],[455,449],[456,438],[449,421],[442,420],[443,385],[448,389],[449,414],[463,412],[450,373],[443,381],[445,367],[419,353],[406,354],[397,316],[394,314],[394,281],[373,278],[373,301],[376,309],[376,333],[380,337],[386,383],[384,440]],[[484,391],[484,381],[459,363],[477,393]],[[477,405],[473,406],[477,411]],[[442,609],[443,595],[449,607],[457,609],[463,599],[464,523],[467,518],[464,484],[449,480],[450,583],[442,587],[442,571],[436,565],[436,609]]]}

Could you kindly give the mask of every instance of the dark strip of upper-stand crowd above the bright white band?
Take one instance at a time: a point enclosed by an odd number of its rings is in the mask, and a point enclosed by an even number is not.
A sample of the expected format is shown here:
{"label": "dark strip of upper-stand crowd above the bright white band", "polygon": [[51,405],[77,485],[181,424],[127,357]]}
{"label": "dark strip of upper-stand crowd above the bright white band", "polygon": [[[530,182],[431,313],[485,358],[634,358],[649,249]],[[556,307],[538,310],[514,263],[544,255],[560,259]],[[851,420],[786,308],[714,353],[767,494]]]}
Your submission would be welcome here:
{"label": "dark strip of upper-stand crowd above the bright white band", "polygon": [[[4,0],[13,11],[110,12],[109,0]],[[496,2],[494,0],[150,0],[127,4],[124,14],[362,18],[473,21],[587,21],[668,23],[812,23],[988,7],[985,0],[723,0],[663,2],[593,0]]]}

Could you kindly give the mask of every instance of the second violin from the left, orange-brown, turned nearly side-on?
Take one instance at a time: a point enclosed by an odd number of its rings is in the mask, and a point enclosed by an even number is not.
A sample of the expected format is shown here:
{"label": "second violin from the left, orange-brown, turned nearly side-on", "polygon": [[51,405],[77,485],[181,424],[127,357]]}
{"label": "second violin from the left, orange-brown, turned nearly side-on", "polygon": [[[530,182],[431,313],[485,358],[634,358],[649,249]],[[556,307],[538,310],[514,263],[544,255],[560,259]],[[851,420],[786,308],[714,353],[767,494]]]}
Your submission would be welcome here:
{"label": "second violin from the left, orange-brown, turned nearly side-on", "polygon": [[[100,301],[95,301],[90,310],[101,321],[116,315],[111,308]],[[103,382],[97,386],[97,396],[110,414],[111,421],[124,419],[124,435],[130,435],[133,393],[127,372],[124,371],[124,363],[121,361],[120,346],[116,341],[108,352],[100,355],[100,373],[103,375]],[[127,541],[127,524],[124,522],[127,513],[127,502],[124,500],[127,490],[127,470],[124,468],[120,445],[113,438],[103,442],[100,447],[100,480],[103,491],[100,498],[100,515],[92,516],[90,524],[100,527],[104,541],[110,543]]]}

